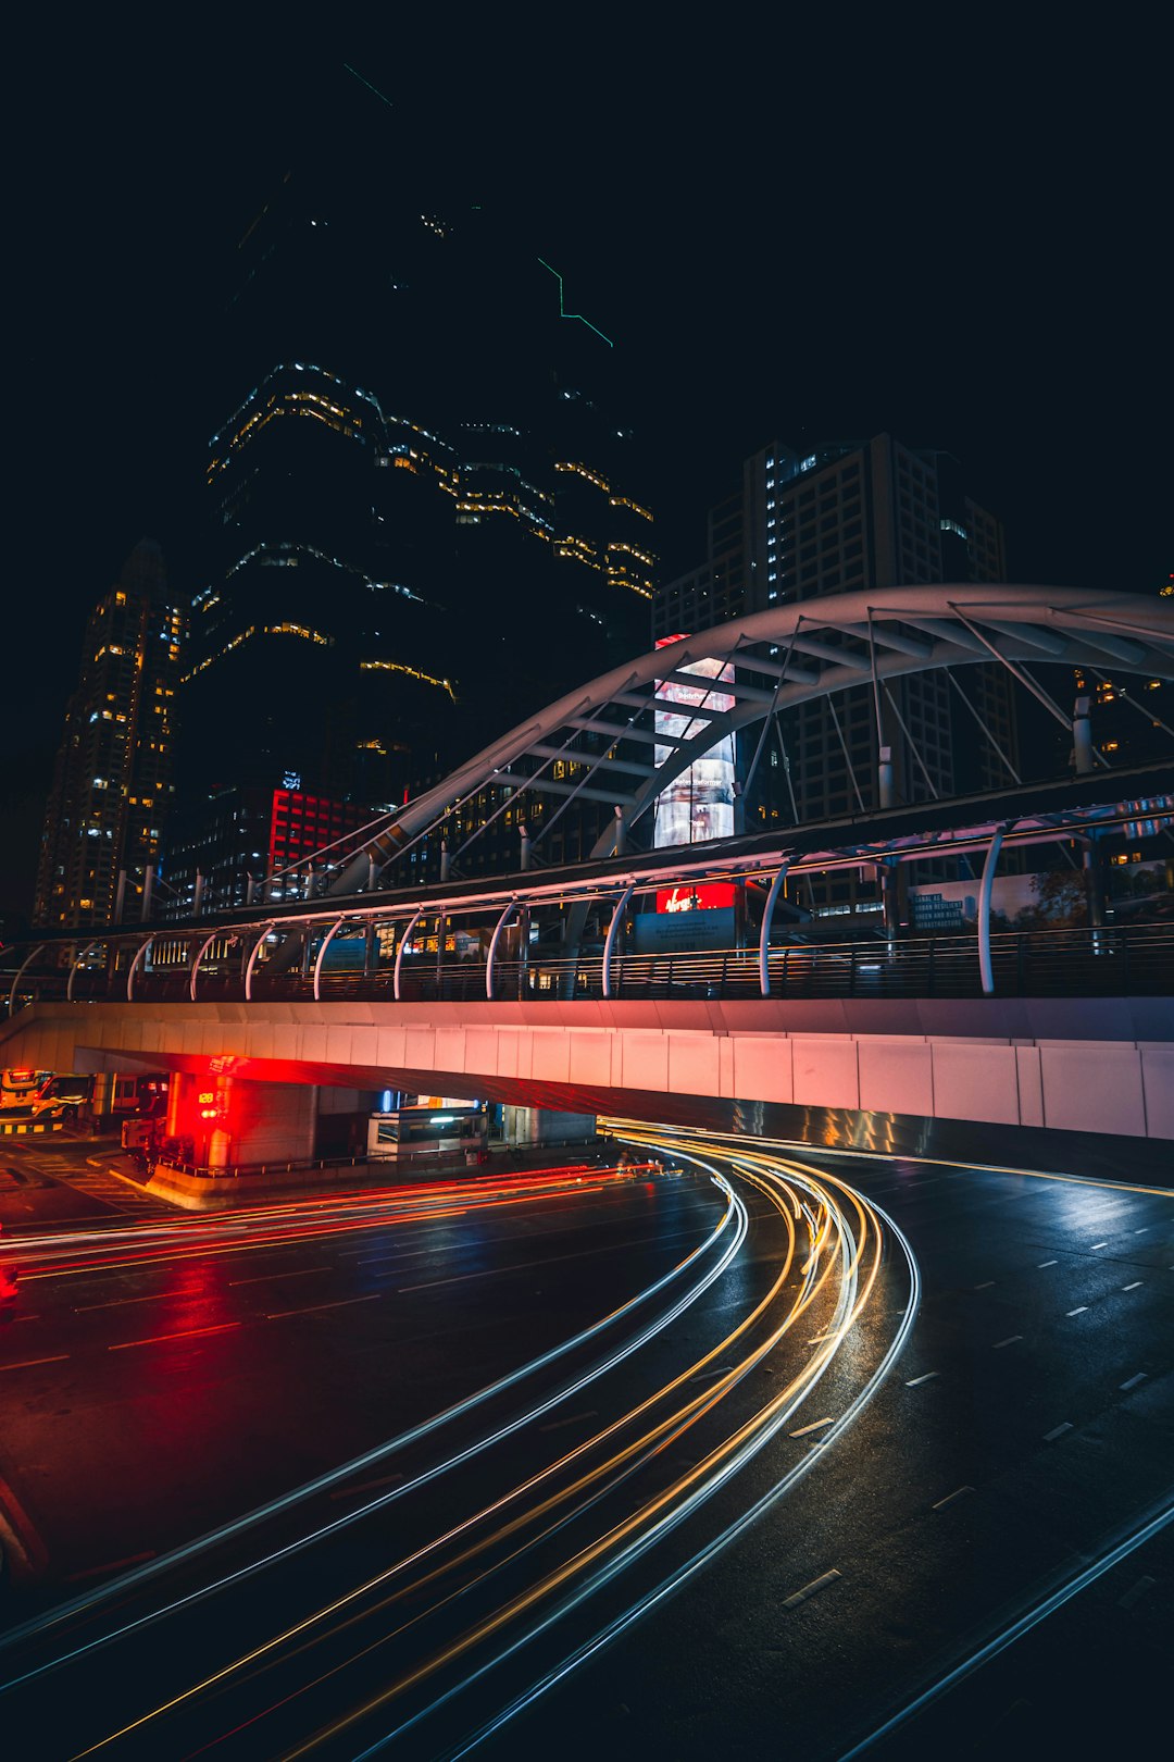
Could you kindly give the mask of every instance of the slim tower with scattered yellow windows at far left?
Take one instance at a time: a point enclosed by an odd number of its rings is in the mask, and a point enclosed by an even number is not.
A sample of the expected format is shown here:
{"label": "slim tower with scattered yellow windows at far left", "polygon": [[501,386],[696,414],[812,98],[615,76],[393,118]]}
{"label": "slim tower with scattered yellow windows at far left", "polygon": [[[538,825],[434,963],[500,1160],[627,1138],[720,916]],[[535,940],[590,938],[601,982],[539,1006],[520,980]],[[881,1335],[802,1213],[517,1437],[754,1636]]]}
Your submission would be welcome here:
{"label": "slim tower with scattered yellow windows at far left", "polygon": [[185,618],[143,539],[86,626],[46,811],[33,922],[100,929],[137,916],[172,798]]}

